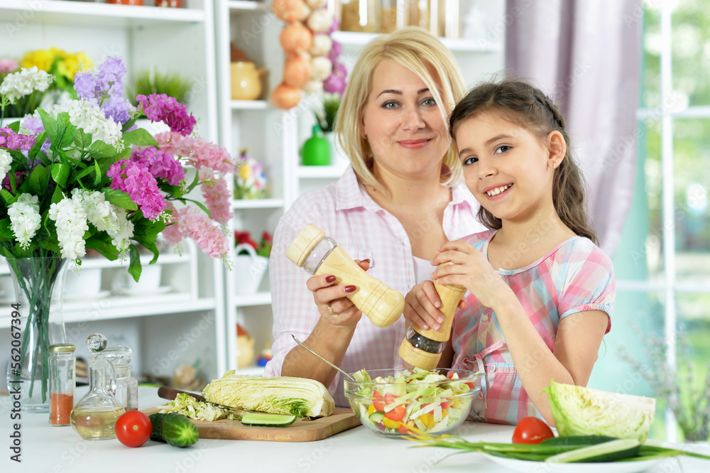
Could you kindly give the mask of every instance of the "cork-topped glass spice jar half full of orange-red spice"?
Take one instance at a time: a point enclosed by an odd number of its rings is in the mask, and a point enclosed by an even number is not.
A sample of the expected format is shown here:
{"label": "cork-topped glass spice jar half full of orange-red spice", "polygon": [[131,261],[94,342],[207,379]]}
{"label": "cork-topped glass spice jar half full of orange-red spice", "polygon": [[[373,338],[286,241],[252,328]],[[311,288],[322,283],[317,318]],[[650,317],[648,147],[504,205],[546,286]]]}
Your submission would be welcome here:
{"label": "cork-topped glass spice jar half full of orange-red spice", "polygon": [[75,350],[72,344],[49,346],[49,425],[70,425],[77,384]]}

